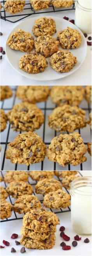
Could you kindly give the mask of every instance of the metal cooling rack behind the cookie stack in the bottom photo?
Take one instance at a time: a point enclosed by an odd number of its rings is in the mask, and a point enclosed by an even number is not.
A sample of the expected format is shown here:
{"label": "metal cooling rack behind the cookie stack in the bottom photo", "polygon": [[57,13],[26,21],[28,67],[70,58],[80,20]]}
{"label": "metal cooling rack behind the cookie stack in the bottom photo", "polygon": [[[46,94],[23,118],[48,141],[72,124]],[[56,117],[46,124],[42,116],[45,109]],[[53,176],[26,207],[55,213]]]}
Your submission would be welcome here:
{"label": "metal cooling rack behind the cookie stack in the bottom photo", "polygon": [[[3,178],[4,178],[4,173],[5,173],[5,171],[3,171],[3,172],[1,171],[1,176],[2,176]],[[79,175],[82,176],[80,172],[78,172],[78,176],[79,176]],[[56,176],[55,176],[55,178],[56,178],[57,180],[59,180],[59,181],[62,183],[62,178],[59,178],[59,177],[56,177]],[[3,182],[4,182],[4,181],[3,181]],[[37,182],[36,182],[36,181],[33,181],[33,180],[29,177],[28,183],[33,186],[33,191],[34,191],[33,194],[34,194],[34,196],[37,196],[37,197],[38,197],[38,199],[40,200],[40,202],[41,202],[41,204],[42,204],[44,197],[43,197],[42,195],[36,194],[36,193],[35,193],[35,189],[34,189],[34,186],[37,184]],[[7,184],[6,184],[5,182],[4,182],[4,187],[5,187],[5,188],[7,187]],[[67,189],[64,188],[64,187],[63,187],[63,190],[69,194],[69,190],[67,190]],[[11,203],[12,205],[14,205],[14,201],[16,201],[16,199],[14,199],[13,197],[9,196],[9,200],[8,200],[8,201],[9,201],[9,203]],[[44,206],[44,205],[42,204],[42,206]],[[55,214],[60,214],[60,213],[70,212],[70,211],[71,211],[71,207],[67,207],[67,208],[65,208],[65,209],[60,208],[59,210],[54,210],[54,209],[52,209],[52,208],[46,208],[46,209],[51,210],[51,212],[54,212]],[[20,216],[21,216],[21,217],[20,217]],[[1,220],[0,222],[11,221],[11,220],[16,220],[16,219],[23,219],[23,216],[24,216],[24,214],[18,214],[17,212],[14,212],[14,210],[13,210],[13,211],[12,211],[12,216],[11,216],[9,219],[4,219],[4,220]]]}

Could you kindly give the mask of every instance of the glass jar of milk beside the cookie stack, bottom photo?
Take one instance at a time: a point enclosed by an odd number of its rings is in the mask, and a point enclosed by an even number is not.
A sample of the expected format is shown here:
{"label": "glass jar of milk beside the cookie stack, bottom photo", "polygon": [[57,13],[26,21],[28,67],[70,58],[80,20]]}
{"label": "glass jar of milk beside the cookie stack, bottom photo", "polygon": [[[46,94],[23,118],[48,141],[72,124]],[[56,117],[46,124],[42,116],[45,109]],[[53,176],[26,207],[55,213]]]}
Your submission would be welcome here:
{"label": "glass jar of milk beside the cookie stack, bottom photo", "polygon": [[71,222],[76,233],[91,234],[91,177],[79,177],[71,183]]}

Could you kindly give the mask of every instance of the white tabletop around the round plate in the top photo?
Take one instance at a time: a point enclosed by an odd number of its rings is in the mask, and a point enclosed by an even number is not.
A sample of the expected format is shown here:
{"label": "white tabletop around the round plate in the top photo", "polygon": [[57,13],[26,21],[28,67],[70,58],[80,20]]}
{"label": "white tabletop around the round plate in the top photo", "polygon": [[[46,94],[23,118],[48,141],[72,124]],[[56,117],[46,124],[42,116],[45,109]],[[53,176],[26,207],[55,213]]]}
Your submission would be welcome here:
{"label": "white tabletop around the round plate in the top photo", "polygon": [[[62,11],[57,13],[47,13],[48,16],[56,16],[63,18],[64,16],[69,17],[69,19],[74,19],[74,10],[71,11]],[[40,14],[40,16],[45,16],[44,14]],[[36,17],[37,15],[32,15],[32,17]],[[29,18],[29,17],[28,17]],[[21,22],[21,21],[20,21]],[[1,32],[3,36],[1,37],[1,46],[5,49],[5,42],[9,33],[11,33],[12,29],[17,26],[19,22],[11,23],[8,21],[1,20]],[[71,23],[70,23],[71,25]],[[87,47],[87,56],[85,61],[81,65],[80,69],[76,72],[69,75],[64,79],[54,80],[54,81],[35,81],[32,79],[28,79],[23,77],[19,73],[17,73],[9,64],[5,55],[3,55],[1,61],[1,85],[89,85],[91,84],[91,46]]]}

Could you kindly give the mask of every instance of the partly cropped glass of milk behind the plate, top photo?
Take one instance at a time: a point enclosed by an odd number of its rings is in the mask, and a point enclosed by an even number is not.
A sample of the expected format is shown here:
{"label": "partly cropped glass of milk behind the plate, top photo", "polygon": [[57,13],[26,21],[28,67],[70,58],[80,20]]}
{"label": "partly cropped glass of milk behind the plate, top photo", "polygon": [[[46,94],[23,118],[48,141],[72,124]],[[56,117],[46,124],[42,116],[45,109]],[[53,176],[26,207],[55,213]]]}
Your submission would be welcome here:
{"label": "partly cropped glass of milk behind the plate, top photo", "polygon": [[75,1],[75,25],[83,33],[91,33],[91,0]]}

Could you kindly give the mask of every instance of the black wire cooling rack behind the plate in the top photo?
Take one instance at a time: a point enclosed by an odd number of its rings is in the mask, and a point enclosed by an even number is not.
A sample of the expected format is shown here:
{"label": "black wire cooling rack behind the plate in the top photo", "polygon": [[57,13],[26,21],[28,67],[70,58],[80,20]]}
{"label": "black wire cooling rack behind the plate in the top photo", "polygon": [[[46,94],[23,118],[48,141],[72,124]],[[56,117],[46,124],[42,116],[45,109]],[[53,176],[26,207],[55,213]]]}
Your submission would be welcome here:
{"label": "black wire cooling rack behind the plate in the top photo", "polygon": [[[69,11],[69,10],[74,10],[74,4],[71,6],[71,8],[55,8],[52,4],[50,5],[50,7],[46,10],[42,10],[42,11],[35,11],[34,8],[32,8],[32,5],[30,4],[30,1],[25,1],[26,4],[25,4],[25,8],[23,10],[22,13],[20,14],[14,14],[14,15],[11,15],[9,13],[7,13],[4,9],[4,4],[5,4],[6,1],[1,1],[0,3],[2,4],[2,9],[0,11],[0,16],[1,16],[1,19],[3,20],[7,20],[9,22],[12,22],[12,23],[15,23],[19,20],[23,20],[24,18],[27,18],[29,16],[32,16],[34,14],[41,14],[41,13],[55,13],[55,12],[60,12],[60,11]],[[16,20],[14,20],[14,18],[16,18]]]}

